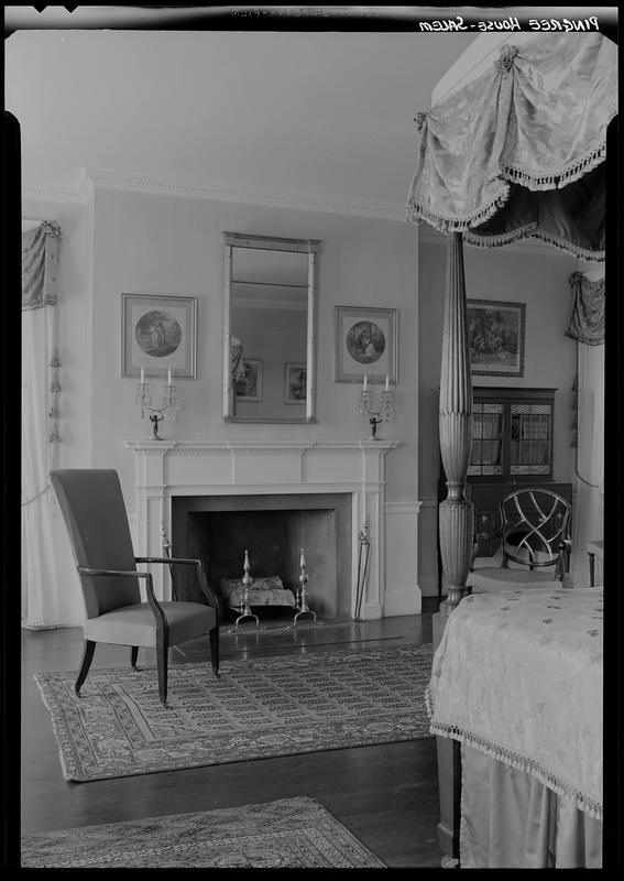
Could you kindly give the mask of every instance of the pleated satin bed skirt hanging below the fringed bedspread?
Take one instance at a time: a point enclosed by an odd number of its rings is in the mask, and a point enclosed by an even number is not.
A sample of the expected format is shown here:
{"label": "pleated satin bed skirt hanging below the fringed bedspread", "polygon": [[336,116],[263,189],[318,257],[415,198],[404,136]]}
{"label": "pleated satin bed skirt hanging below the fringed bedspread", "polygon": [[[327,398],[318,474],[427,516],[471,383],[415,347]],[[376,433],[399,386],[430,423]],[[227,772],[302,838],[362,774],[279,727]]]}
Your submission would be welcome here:
{"label": "pleated satin bed skirt hanging below the fringed bedspread", "polygon": [[462,869],[600,869],[602,820],[536,777],[461,747]]}

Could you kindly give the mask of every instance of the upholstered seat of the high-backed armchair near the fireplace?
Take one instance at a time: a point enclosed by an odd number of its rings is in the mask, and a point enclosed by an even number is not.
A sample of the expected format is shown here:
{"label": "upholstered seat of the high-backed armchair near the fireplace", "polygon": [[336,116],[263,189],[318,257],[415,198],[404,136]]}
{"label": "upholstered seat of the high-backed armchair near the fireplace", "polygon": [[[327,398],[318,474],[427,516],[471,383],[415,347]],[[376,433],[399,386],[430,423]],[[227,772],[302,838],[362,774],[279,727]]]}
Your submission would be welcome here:
{"label": "upholstered seat of the high-backed armchair near the fireplace", "polygon": [[[200,637],[212,630],[216,612],[201,602],[161,602],[169,626],[169,645]],[[155,648],[156,619],[147,602],[122,606],[85,621],[85,639],[116,645]]]}

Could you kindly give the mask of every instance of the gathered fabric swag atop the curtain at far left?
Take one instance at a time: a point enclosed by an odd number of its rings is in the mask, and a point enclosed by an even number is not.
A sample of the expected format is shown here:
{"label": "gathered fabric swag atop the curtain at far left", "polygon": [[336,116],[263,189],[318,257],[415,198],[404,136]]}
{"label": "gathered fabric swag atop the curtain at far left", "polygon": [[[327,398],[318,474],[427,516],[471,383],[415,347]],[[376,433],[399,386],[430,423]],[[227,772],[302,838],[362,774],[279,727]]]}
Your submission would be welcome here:
{"label": "gathered fabric swag atop the curtain at far left", "polygon": [[44,220],[22,232],[22,309],[54,305],[61,227]]}

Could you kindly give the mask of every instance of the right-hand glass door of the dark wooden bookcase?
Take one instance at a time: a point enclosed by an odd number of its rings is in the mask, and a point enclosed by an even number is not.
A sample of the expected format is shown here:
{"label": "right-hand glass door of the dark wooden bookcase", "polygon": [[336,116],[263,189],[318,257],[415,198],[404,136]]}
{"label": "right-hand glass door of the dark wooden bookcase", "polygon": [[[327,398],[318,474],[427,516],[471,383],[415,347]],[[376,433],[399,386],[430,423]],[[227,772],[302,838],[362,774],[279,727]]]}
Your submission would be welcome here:
{"label": "right-hand glass door of the dark wooden bookcase", "polygon": [[510,474],[549,475],[552,407],[550,404],[512,404]]}

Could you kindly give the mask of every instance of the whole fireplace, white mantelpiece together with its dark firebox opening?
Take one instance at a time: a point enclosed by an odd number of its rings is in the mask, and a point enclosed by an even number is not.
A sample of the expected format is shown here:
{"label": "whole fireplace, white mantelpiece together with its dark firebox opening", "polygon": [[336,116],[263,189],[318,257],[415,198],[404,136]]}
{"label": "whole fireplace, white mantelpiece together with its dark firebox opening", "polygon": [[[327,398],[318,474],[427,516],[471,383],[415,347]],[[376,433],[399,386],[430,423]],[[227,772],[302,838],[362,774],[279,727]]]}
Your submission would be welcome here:
{"label": "whole fireplace, white mantelpiece together with its dark firebox opening", "polygon": [[[175,555],[201,557],[217,587],[222,577],[242,576],[248,550],[252,577],[278,575],[296,586],[304,547],[310,608],[320,618],[352,618],[358,535],[365,531],[361,617],[382,617],[384,458],[394,442],[150,439],[127,446],[136,457],[139,555],[162,556],[166,539]],[[167,567],[151,570],[156,596],[167,599]],[[187,581],[176,586],[193,596]]]}

